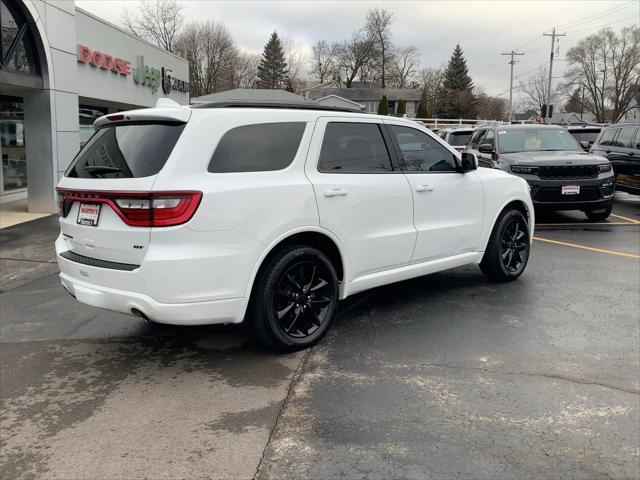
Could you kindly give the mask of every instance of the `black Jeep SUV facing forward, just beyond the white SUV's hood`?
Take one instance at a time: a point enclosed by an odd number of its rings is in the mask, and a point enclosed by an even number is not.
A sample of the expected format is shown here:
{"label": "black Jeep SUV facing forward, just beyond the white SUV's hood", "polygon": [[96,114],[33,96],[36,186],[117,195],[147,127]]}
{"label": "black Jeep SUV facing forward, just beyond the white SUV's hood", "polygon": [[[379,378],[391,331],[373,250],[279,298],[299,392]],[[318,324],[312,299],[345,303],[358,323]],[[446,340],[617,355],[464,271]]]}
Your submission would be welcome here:
{"label": "black Jeep SUV facing forward, just beyond the white SUV's hood", "polygon": [[499,168],[524,178],[536,207],[582,210],[590,220],[604,220],[611,213],[611,163],[583,151],[565,128],[481,127],[465,151],[475,153],[481,167]]}

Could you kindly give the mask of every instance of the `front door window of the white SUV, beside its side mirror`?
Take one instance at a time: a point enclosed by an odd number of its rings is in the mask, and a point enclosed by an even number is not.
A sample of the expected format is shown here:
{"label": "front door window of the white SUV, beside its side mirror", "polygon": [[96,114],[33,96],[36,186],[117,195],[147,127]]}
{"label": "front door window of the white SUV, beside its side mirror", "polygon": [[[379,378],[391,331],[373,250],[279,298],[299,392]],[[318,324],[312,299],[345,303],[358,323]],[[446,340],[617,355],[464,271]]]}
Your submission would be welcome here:
{"label": "front door window of the white SUV, beside its side mirror", "polygon": [[398,142],[400,169],[406,172],[452,172],[456,170],[454,154],[420,130],[390,125]]}

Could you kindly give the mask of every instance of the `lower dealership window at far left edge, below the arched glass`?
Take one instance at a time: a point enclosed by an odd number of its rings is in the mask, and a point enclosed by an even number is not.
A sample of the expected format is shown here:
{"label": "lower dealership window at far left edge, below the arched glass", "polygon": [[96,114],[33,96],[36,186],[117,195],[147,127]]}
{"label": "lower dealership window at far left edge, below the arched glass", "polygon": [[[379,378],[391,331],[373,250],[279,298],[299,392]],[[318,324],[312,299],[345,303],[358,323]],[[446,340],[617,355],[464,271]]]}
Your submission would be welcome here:
{"label": "lower dealership window at far left edge, below the arched glass", "polygon": [[0,95],[0,193],[27,186],[27,154],[24,135],[24,103],[20,97]]}

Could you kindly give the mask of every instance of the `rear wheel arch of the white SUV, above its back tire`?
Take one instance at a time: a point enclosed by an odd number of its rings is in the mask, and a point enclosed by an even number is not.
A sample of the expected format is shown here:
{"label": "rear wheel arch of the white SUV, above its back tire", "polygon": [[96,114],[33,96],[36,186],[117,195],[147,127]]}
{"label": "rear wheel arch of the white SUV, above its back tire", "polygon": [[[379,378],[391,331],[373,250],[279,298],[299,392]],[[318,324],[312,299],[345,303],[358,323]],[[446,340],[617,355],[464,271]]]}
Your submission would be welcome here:
{"label": "rear wheel arch of the white SUV, above its back tire", "polygon": [[251,272],[251,277],[249,278],[249,283],[245,292],[246,297],[251,296],[255,281],[261,273],[264,265],[269,261],[269,259],[276,255],[279,250],[288,245],[309,245],[317,248],[327,255],[336,269],[336,275],[338,276],[338,281],[341,284],[340,298],[342,298],[342,284],[345,279],[348,278],[344,248],[333,233],[329,230],[316,226],[300,227],[286,232],[276,238],[267,248],[264,249]]}

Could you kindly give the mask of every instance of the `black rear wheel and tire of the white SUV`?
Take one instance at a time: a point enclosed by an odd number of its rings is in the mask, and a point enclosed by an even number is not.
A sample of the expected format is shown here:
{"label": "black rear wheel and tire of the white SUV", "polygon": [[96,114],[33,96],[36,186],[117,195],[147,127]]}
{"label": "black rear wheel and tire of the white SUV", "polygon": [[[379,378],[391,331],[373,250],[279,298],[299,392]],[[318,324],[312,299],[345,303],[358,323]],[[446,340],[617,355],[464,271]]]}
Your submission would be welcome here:
{"label": "black rear wheel and tire of the white SUV", "polygon": [[325,335],[338,304],[338,277],[329,258],[304,245],[287,246],[267,260],[250,301],[251,327],[265,346],[301,350]]}

